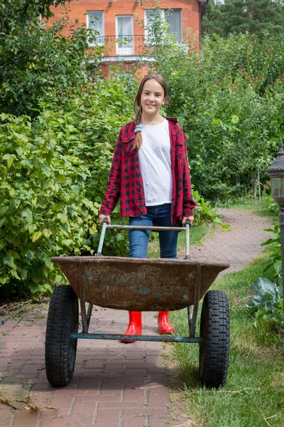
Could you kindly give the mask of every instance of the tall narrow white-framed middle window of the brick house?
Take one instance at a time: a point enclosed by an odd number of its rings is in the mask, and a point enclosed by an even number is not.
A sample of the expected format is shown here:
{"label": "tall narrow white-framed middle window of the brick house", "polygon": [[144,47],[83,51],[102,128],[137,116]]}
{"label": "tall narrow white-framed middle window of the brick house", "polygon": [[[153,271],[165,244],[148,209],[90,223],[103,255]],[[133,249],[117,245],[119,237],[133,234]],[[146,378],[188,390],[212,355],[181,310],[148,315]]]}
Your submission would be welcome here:
{"label": "tall narrow white-framed middle window of the brick house", "polygon": [[116,53],[133,55],[133,16],[116,16]]}

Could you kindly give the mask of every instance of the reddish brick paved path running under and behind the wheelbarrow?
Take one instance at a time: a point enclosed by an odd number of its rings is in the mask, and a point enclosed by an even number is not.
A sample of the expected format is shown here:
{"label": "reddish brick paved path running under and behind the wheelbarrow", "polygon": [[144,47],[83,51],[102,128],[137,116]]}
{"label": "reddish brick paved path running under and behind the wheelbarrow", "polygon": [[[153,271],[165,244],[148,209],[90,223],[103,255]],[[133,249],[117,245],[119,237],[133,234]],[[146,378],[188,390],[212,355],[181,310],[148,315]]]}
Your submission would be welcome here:
{"label": "reddish brick paved path running under and behind the wheelbarrow", "polygon": [[[218,231],[204,246],[191,248],[191,256],[229,260],[230,270],[238,270],[261,251],[269,236],[262,229],[270,222],[243,211],[221,214],[231,231]],[[13,406],[0,404],[0,427],[191,425],[174,409],[177,402],[170,403],[166,384],[176,372],[165,369],[158,342],[81,339],[71,383],[51,387],[44,369],[46,314],[39,305],[0,327],[0,399]],[[124,332],[127,319],[127,312],[95,307],[89,332]],[[155,313],[143,313],[143,333],[156,334],[156,322]]]}

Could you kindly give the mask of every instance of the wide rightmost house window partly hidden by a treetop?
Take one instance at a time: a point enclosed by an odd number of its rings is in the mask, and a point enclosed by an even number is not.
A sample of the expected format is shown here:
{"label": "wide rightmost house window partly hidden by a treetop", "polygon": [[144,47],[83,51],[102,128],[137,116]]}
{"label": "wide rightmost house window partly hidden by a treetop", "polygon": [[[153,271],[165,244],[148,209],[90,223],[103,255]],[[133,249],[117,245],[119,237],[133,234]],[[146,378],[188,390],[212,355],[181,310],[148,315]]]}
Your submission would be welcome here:
{"label": "wide rightmost house window partly hidden by a treetop", "polygon": [[[176,41],[182,41],[182,11],[181,9],[160,9],[158,11],[163,21],[169,24],[168,31],[170,34],[175,36]],[[151,24],[153,23],[153,19],[155,19],[155,14],[157,14],[154,10],[148,10],[145,14],[145,36],[146,40],[149,40],[149,28],[151,28]]]}

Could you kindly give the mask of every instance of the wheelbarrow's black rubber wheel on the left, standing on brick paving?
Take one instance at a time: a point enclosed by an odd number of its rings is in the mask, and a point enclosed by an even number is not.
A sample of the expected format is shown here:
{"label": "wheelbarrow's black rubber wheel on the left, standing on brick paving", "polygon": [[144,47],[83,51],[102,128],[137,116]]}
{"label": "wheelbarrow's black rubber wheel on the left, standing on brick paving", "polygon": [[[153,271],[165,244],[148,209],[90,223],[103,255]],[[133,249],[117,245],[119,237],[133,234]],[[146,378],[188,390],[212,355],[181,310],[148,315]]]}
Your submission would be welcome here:
{"label": "wheelbarrow's black rubber wheel on the left, standing on brick paving", "polygon": [[45,371],[52,386],[66,386],[72,379],[77,352],[78,298],[69,285],[57,286],[50,298],[45,338]]}

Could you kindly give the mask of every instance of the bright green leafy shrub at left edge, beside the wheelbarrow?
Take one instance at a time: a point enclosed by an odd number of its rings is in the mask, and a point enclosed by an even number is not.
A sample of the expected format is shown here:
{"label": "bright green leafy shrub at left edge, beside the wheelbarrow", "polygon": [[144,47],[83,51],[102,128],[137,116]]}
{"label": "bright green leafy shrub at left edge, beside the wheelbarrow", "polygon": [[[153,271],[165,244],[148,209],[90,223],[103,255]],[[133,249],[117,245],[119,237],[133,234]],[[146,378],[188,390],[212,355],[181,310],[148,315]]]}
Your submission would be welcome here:
{"label": "bright green leafy shrub at left edge, beside the wheelbarrow", "polygon": [[62,153],[46,117],[36,130],[28,117],[0,117],[0,283],[17,294],[50,291],[65,281],[50,257],[90,250],[99,205],[85,197],[88,169]]}

